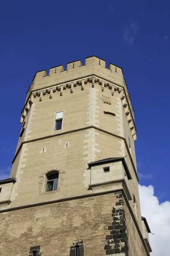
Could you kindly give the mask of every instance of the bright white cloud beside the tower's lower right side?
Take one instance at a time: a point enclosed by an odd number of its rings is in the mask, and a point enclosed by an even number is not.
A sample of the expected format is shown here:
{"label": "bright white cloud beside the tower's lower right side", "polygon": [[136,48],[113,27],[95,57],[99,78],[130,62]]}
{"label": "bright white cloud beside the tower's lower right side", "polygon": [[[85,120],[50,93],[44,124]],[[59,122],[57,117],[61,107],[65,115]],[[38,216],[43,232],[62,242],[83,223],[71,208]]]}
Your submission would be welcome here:
{"label": "bright white cloud beside the tower's lower right side", "polygon": [[159,203],[153,186],[139,185],[142,216],[147,218],[150,230],[151,256],[169,256],[170,244],[170,201]]}

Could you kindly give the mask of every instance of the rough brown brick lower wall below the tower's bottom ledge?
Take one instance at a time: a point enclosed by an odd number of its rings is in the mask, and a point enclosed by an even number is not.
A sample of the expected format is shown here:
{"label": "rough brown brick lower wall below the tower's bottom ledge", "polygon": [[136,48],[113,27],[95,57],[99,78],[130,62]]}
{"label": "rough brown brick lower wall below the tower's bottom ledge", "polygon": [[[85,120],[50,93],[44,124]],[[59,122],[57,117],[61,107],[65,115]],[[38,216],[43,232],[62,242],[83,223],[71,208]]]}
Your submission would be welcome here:
{"label": "rough brown brick lower wall below the tower's bottom ledge", "polygon": [[146,256],[122,202],[115,192],[0,213],[0,255],[69,256],[79,243],[81,256]]}

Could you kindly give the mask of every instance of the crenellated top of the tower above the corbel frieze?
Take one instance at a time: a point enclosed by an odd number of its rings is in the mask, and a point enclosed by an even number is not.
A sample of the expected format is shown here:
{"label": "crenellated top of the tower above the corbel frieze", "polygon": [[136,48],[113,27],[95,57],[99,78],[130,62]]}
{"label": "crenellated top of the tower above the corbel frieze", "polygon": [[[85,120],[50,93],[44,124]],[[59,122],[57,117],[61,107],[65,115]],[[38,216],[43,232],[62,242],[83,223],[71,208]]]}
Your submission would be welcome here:
{"label": "crenellated top of the tower above the corbel frieze", "polygon": [[109,63],[108,67],[105,65],[105,60],[96,56],[85,58],[85,65],[82,65],[81,60],[72,61],[67,64],[67,69],[64,70],[63,65],[51,67],[49,73],[46,70],[38,71],[32,82],[32,90],[40,90],[77,78],[85,76],[96,75],[100,78],[107,79],[122,87],[125,86],[123,82],[123,71],[121,67]]}

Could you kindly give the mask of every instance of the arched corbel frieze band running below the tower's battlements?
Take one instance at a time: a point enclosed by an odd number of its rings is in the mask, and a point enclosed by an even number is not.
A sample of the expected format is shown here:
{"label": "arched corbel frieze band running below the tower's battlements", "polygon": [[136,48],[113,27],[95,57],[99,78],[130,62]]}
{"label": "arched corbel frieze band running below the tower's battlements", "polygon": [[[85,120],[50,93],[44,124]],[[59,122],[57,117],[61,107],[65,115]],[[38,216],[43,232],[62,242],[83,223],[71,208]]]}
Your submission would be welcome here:
{"label": "arched corbel frieze band running below the tower's battlements", "polygon": [[133,140],[136,140],[136,128],[134,125],[134,120],[133,120],[133,115],[132,115],[131,109],[129,108],[129,104],[127,102],[125,88],[117,86],[116,84],[108,82],[104,79],[100,79],[97,76],[90,76],[90,77],[71,81],[71,82],[64,83],[64,84],[54,85],[54,86],[33,92],[30,95],[30,98],[28,99],[28,102],[25,105],[25,108],[23,109],[20,122],[23,125],[25,124],[27,112],[30,108],[31,103],[33,103],[35,97],[39,97],[40,102],[41,102],[43,100],[43,96],[45,96],[45,95],[49,95],[49,99],[52,99],[53,93],[56,93],[56,92],[59,92],[59,95],[63,96],[65,89],[70,89],[70,93],[74,93],[74,88],[79,87],[79,86],[81,87],[81,90],[85,90],[85,87],[88,83],[92,84],[92,88],[94,87],[95,84],[99,84],[102,92],[105,90],[105,88],[108,87],[111,90],[111,96],[114,96],[114,93],[116,91],[121,95],[122,105],[125,110],[125,114],[126,114],[127,121],[129,123],[129,127],[131,130],[132,136],[133,136]]}

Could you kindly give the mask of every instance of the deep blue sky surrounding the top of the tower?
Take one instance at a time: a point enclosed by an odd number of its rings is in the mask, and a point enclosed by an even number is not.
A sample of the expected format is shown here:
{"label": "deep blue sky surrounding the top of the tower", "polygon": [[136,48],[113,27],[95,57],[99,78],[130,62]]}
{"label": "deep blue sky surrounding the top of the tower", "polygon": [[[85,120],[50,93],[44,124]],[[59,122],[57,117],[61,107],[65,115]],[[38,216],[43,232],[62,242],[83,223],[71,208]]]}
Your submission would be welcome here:
{"label": "deep blue sky surrounding the top of the tower", "polygon": [[[169,191],[170,2],[8,0],[0,8],[0,173],[9,174],[34,74],[97,55],[123,68],[140,184]],[[3,176],[2,176],[3,175]],[[6,177],[7,177],[6,176]]]}

